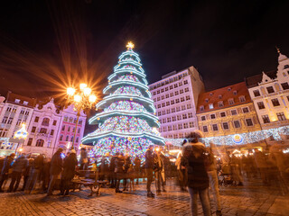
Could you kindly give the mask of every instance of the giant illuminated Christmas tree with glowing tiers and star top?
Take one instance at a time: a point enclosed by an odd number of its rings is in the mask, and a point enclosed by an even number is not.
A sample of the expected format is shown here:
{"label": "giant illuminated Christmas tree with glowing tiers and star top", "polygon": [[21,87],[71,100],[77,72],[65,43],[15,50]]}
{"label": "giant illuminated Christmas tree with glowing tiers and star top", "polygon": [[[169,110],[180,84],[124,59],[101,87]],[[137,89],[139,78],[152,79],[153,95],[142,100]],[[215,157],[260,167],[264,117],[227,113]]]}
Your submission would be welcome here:
{"label": "giant illuminated Christmas tree with glowing tiers and star top", "polygon": [[89,120],[98,124],[98,129],[82,139],[83,143],[93,142],[91,155],[128,153],[132,157],[143,157],[149,145],[163,145],[164,139],[156,128],[160,127],[155,116],[154,101],[151,99],[144,69],[138,55],[129,42],[108,76],[107,94],[97,104],[103,109]]}

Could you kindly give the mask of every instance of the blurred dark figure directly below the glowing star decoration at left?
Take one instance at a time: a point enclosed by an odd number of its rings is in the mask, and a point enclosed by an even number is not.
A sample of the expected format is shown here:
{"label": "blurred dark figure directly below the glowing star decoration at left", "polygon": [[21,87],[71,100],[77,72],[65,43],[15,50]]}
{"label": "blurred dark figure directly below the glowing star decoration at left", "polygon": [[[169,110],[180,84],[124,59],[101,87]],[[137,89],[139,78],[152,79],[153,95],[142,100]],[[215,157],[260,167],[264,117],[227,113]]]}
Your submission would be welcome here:
{"label": "blurred dark figure directly below the glowing star decoration at left", "polygon": [[8,189],[9,192],[16,192],[23,175],[23,171],[28,166],[28,160],[24,154],[20,155],[13,164],[12,179]]}

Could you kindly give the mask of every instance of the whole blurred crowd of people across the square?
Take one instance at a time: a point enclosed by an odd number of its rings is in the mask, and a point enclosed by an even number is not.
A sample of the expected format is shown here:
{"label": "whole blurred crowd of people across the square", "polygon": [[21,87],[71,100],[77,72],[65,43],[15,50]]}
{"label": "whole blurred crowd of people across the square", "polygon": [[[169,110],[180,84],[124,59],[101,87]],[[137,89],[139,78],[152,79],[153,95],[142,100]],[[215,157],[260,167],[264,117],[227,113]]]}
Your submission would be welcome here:
{"label": "whole blurred crowd of people across the square", "polygon": [[71,180],[81,172],[92,172],[96,179],[107,180],[116,193],[134,191],[139,179],[144,181],[146,178],[147,196],[154,198],[153,182],[157,195],[161,195],[166,192],[167,178],[176,177],[180,190],[190,193],[192,215],[198,215],[198,196],[204,215],[211,214],[210,193],[215,202],[216,214],[222,215],[219,184],[222,184],[224,176],[231,177],[231,182],[238,186],[244,185],[244,179],[249,182],[259,177],[264,185],[274,183],[283,188],[284,193],[288,192],[289,158],[278,146],[271,147],[267,154],[256,148],[246,155],[227,151],[217,157],[211,147],[206,148],[200,142],[201,137],[201,131],[195,130],[184,139],[182,153],[175,163],[163,154],[161,148],[155,146],[146,150],[144,159],[117,152],[113,156],[103,156],[93,161],[85,148],[81,148],[79,160],[74,149],[65,155],[63,149],[59,148],[51,158],[24,154],[14,158],[13,153],[0,159],[0,192],[4,192],[5,183],[11,177],[8,193],[16,192],[23,178],[20,190],[24,193],[35,193],[38,185],[38,190],[41,189],[48,196],[55,189],[60,190],[60,195],[69,195]]}

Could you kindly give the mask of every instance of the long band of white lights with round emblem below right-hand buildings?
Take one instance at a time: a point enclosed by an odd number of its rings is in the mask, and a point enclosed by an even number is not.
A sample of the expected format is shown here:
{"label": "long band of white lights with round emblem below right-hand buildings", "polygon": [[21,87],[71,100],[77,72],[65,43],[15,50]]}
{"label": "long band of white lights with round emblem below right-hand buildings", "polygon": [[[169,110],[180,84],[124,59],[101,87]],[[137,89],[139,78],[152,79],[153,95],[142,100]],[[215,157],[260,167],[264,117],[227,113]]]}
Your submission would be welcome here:
{"label": "long band of white lights with round emblem below right-hand buildings", "polygon": [[[268,130],[256,130],[253,132],[232,134],[219,137],[207,137],[202,138],[201,141],[210,146],[210,142],[216,145],[233,146],[233,145],[246,145],[249,143],[256,143],[264,139],[268,139],[273,136],[277,141],[282,140],[281,135],[289,135],[289,126],[279,127]],[[236,139],[238,137],[238,139]],[[166,144],[172,144],[174,146],[181,146],[183,139],[164,139]]]}

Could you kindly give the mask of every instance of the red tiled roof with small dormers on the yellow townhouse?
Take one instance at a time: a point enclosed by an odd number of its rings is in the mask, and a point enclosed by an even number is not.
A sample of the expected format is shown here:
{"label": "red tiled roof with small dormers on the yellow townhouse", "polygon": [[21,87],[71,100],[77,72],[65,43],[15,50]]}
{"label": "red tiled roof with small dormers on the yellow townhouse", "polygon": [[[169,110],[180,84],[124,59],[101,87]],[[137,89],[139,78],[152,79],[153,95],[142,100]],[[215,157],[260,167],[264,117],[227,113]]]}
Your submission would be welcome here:
{"label": "red tiled roof with small dormers on the yellow townhouse", "polygon": [[[240,102],[239,100],[240,96],[245,96],[245,102]],[[229,99],[233,99],[234,103],[229,104],[228,103]],[[222,107],[219,107],[219,102],[223,102]],[[246,83],[241,82],[235,85],[228,85],[226,87],[222,87],[210,92],[200,94],[197,106],[197,114],[203,112],[210,112],[214,110],[220,110],[250,102],[252,101],[247,91]],[[213,105],[212,109],[210,109],[210,104]],[[200,111],[200,106],[204,107],[203,111]]]}

